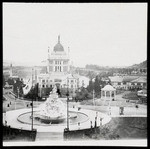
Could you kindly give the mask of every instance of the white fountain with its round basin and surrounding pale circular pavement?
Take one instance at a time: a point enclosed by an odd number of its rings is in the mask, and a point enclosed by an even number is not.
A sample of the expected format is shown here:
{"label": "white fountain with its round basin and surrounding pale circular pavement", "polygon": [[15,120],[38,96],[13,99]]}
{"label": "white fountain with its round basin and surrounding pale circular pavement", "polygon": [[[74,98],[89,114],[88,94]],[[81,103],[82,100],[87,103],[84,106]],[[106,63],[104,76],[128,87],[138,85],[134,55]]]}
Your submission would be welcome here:
{"label": "white fountain with its round basin and surrounding pale circular pavement", "polygon": [[[103,118],[103,122],[99,121],[101,118]],[[99,127],[108,123],[110,119],[108,115],[95,110],[79,110],[77,107],[71,106],[67,110],[66,104],[58,97],[56,86],[54,86],[45,102],[33,108],[33,112],[31,108],[6,112],[7,124],[12,128],[22,130],[31,130],[34,128],[37,132],[49,132],[51,136],[55,133],[60,133],[62,137],[67,124],[69,124],[69,131],[76,131],[78,129],[90,130],[91,122],[94,124],[97,121],[96,127]]]}

